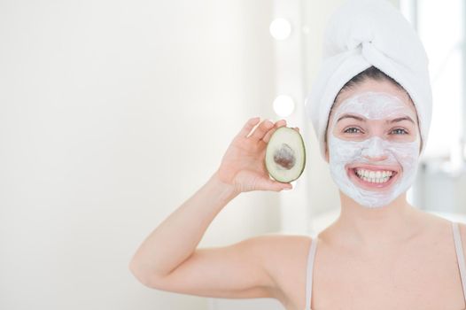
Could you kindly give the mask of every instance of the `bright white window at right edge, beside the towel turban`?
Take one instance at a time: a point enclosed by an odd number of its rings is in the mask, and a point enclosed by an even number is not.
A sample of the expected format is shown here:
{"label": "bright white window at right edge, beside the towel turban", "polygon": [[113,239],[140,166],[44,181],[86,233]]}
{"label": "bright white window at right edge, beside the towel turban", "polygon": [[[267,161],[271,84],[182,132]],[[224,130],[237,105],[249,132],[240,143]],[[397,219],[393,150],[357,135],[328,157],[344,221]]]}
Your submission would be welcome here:
{"label": "bright white window at right edge, beside the towel turban", "polygon": [[[401,12],[415,23],[429,57],[433,111],[427,157],[459,150],[462,136],[463,0],[401,0]],[[416,5],[415,5],[416,4]],[[435,22],[432,22],[435,19]],[[458,152],[458,151],[456,151]]]}

